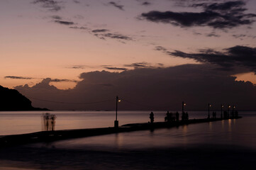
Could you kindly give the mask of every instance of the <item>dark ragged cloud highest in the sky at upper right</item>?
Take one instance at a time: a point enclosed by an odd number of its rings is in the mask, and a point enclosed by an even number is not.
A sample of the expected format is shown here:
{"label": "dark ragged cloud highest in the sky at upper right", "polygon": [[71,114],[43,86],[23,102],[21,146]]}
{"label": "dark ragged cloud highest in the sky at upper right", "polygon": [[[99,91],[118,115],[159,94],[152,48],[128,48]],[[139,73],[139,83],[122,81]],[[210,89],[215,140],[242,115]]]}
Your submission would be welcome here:
{"label": "dark ragged cloud highest in the sky at upper right", "polygon": [[228,1],[224,3],[194,4],[203,8],[202,12],[150,11],[142,13],[140,18],[155,23],[170,23],[174,26],[209,26],[211,28],[235,28],[254,22],[254,13],[245,13],[245,2]]}

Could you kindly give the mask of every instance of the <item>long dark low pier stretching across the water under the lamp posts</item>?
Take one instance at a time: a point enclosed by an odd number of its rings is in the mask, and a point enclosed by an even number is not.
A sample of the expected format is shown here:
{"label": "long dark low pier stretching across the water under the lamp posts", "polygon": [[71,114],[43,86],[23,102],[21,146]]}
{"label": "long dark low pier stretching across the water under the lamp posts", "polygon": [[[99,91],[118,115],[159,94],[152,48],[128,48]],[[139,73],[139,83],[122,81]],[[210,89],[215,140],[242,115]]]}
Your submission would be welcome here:
{"label": "long dark low pier stretching across the water under the lamp posts", "polygon": [[138,130],[155,130],[160,128],[173,128],[182,125],[190,125],[195,123],[209,123],[220,120],[238,119],[240,116],[235,118],[205,118],[205,119],[191,119],[191,120],[180,120],[172,122],[156,122],[156,123],[131,123],[121,125],[117,127],[109,128],[87,128],[77,130],[53,130],[53,131],[41,131],[33,132],[21,135],[3,135],[0,136],[0,147],[9,147],[15,145],[23,145],[35,142],[53,142],[57,140],[67,140],[78,137],[91,137],[96,135],[108,135],[119,132],[133,132]]}

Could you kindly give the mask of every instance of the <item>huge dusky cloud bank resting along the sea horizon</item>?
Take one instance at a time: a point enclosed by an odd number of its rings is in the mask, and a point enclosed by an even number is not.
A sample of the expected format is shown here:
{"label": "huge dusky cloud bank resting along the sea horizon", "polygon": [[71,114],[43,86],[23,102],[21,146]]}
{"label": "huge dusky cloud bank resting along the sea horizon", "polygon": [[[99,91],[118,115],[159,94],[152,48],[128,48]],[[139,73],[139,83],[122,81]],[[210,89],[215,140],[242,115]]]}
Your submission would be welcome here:
{"label": "huge dusky cloud bank resting along the sea horizon", "polygon": [[[207,109],[213,103],[235,104],[238,109],[255,109],[256,86],[235,81],[234,72],[223,71],[213,64],[186,64],[167,68],[138,68],[125,72],[85,72],[74,89],[60,90],[44,79],[35,86],[17,86],[21,94],[31,97],[33,106],[55,110],[114,110],[115,97],[122,101],[120,110],[180,111],[182,101],[188,110]],[[195,97],[196,96],[196,97]],[[36,101],[40,98],[67,103],[106,101],[90,105],[56,104]],[[245,99],[246,98],[246,99]]]}

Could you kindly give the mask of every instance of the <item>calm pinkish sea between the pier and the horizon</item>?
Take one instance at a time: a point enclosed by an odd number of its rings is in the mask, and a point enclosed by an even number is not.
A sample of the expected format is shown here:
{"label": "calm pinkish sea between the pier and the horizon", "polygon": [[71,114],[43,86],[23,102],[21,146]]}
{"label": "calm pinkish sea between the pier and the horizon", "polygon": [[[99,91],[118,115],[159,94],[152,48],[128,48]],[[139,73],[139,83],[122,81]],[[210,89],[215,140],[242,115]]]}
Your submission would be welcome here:
{"label": "calm pinkish sea between the pier and the horizon", "polygon": [[[0,112],[0,135],[13,135],[43,130],[45,111]],[[57,116],[55,130],[106,128],[113,126],[115,111],[48,111]],[[154,111],[155,121],[164,121],[166,111]],[[206,118],[207,112],[189,112],[190,118]],[[253,114],[253,113],[249,113]],[[119,125],[147,123],[150,111],[118,111]]]}

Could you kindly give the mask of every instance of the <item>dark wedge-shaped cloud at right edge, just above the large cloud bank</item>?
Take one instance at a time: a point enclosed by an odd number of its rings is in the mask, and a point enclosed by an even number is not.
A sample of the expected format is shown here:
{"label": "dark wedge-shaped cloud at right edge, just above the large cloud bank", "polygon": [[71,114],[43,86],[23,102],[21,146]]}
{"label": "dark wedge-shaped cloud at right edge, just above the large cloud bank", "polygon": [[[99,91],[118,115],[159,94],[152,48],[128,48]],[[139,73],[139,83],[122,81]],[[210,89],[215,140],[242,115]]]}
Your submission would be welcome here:
{"label": "dark wedge-shaped cloud at right edge, just above the large cloud bank", "polygon": [[162,50],[174,57],[194,59],[198,62],[218,64],[226,68],[245,67],[256,73],[256,47],[235,46],[224,49],[222,52],[216,50],[201,50],[199,53],[186,53],[181,51],[169,52]]}

